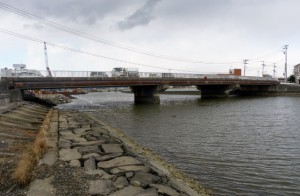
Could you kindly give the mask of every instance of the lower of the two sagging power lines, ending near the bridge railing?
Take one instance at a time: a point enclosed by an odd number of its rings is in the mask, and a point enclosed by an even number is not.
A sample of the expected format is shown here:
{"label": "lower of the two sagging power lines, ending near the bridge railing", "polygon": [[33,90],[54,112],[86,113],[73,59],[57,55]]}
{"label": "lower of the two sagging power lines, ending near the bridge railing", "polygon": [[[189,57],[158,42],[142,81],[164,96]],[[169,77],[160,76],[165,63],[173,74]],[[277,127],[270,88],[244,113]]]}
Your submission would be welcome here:
{"label": "lower of the two sagging power lines, ending near the bridge railing", "polygon": [[[44,44],[43,40],[36,39],[36,38],[33,38],[33,37],[29,37],[29,36],[26,36],[26,35],[22,35],[22,34],[19,34],[19,33],[15,33],[15,32],[12,32],[12,31],[8,31],[8,30],[2,29],[2,28],[0,28],[0,32],[8,34],[8,35],[15,36],[15,37],[19,37],[19,38],[22,38],[22,39],[26,39],[26,40],[29,40],[29,41]],[[127,64],[139,65],[139,66],[145,66],[145,67],[153,67],[153,68],[165,69],[165,70],[170,69],[170,68],[159,67],[159,66],[154,66],[154,65],[135,63],[135,62],[126,61],[126,60],[123,60],[123,59],[118,59],[118,58],[113,58],[113,57],[107,57],[107,56],[94,54],[94,53],[91,53],[91,52],[86,52],[86,51],[83,51],[83,50],[78,50],[78,49],[70,48],[70,47],[67,47],[67,46],[64,46],[64,45],[61,45],[61,44],[55,44],[55,43],[51,43],[51,42],[47,42],[47,45],[52,46],[52,47],[56,47],[56,48],[61,48],[61,49],[68,50],[68,51],[72,51],[72,52],[76,52],[76,53],[81,53],[81,54],[86,54],[86,55],[90,55],[90,56],[94,56],[94,57],[98,57],[98,58],[104,58],[104,59],[108,59],[108,60],[112,60],[112,61],[117,61],[117,62],[121,62],[121,63],[127,63]],[[180,70],[180,69],[172,69],[172,70],[174,70],[174,71],[194,72],[194,71]]]}

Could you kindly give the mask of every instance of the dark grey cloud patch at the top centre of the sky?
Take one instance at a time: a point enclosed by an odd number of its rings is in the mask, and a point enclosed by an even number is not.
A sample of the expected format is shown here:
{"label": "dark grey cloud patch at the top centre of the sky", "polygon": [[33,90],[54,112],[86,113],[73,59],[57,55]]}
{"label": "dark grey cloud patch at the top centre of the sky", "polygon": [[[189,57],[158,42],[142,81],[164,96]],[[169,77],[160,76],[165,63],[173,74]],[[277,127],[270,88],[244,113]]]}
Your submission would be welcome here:
{"label": "dark grey cloud patch at the top centre of the sky", "polygon": [[132,29],[136,26],[148,25],[154,19],[152,12],[154,7],[161,0],[148,0],[145,5],[136,10],[132,15],[118,23],[120,30]]}

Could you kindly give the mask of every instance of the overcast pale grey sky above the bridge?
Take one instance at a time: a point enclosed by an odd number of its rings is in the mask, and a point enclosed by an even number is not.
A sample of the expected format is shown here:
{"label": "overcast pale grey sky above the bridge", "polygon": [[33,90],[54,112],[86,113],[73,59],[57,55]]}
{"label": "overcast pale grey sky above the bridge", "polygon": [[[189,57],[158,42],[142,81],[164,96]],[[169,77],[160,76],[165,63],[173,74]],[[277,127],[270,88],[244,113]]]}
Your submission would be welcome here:
{"label": "overcast pale grey sky above the bridge", "polygon": [[0,68],[45,70],[45,41],[51,70],[215,74],[244,72],[247,59],[246,76],[261,76],[263,63],[273,75],[275,63],[283,77],[288,45],[289,76],[300,63],[299,7],[299,0],[0,0]]}

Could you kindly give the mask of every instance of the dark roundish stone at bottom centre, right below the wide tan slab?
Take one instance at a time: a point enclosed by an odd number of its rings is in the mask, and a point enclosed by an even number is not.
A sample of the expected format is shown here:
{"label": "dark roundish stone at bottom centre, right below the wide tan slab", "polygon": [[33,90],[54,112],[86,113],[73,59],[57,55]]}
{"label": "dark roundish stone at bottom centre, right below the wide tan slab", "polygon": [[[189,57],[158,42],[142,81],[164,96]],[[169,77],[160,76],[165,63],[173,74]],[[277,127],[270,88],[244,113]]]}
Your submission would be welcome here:
{"label": "dark roundish stone at bottom centre, right below the wide tan slab", "polygon": [[133,186],[141,186],[145,188],[149,184],[157,183],[159,180],[159,176],[155,176],[153,174],[145,172],[137,172],[130,180],[130,184]]}

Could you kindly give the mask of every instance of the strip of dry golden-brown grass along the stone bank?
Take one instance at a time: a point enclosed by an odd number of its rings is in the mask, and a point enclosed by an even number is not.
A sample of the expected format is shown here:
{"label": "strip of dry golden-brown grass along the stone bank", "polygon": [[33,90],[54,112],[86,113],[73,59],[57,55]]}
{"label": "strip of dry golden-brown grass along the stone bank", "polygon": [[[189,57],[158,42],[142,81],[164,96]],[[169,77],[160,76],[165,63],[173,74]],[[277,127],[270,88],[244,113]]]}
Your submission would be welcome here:
{"label": "strip of dry golden-brown grass along the stone bank", "polygon": [[25,150],[16,170],[12,174],[13,180],[20,185],[26,185],[30,182],[32,177],[31,173],[36,163],[47,150],[46,135],[49,129],[51,117],[52,109],[46,115],[35,141]]}

